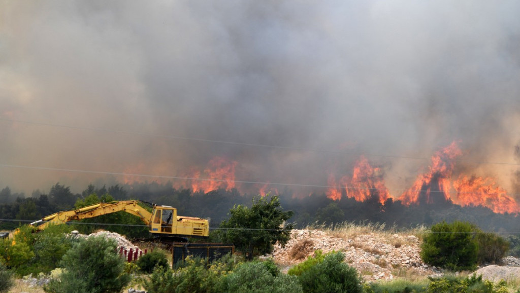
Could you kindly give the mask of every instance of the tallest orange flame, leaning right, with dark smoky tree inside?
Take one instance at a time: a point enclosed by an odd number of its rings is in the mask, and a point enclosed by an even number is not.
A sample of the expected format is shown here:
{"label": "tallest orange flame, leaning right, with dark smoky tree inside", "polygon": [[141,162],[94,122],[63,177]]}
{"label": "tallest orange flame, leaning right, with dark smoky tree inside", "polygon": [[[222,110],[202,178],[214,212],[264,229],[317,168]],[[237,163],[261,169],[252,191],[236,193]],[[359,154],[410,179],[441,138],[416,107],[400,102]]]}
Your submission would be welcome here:
{"label": "tallest orange flame, leaning right, with dark smoky tree inside", "polygon": [[399,197],[405,205],[418,205],[420,202],[433,204],[436,199],[450,200],[450,179],[455,167],[455,159],[462,154],[456,141],[432,156],[432,165],[421,174],[412,187]]}

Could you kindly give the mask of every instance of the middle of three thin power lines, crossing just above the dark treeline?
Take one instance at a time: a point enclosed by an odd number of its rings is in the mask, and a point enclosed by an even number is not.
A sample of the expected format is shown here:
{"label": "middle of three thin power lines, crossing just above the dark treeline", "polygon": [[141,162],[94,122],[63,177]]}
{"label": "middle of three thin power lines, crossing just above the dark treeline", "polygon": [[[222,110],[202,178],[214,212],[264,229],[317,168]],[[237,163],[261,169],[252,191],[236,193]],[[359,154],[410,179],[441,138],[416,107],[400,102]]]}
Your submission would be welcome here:
{"label": "middle of three thin power lines, crossing just above the dark treeline", "polygon": [[[94,171],[94,170],[81,170],[81,169],[65,169],[65,168],[50,168],[50,167],[36,167],[36,166],[22,166],[22,165],[10,165],[10,164],[0,164],[0,167],[4,168],[21,168],[21,169],[33,169],[33,170],[47,170],[47,171],[60,171],[60,172],[74,172],[74,173],[85,173],[85,174],[103,174],[103,175],[114,175],[114,176],[130,176],[130,177],[144,177],[144,178],[160,178],[160,179],[175,179],[175,180],[192,180],[192,181],[216,181],[223,183],[243,183],[243,184],[259,184],[259,185],[277,185],[277,186],[287,186],[287,187],[308,187],[308,188],[323,188],[323,189],[345,189],[345,190],[368,190],[374,192],[387,192],[387,188],[363,188],[363,187],[348,187],[347,185],[320,185],[320,184],[300,184],[300,183],[281,183],[281,182],[267,182],[267,181],[248,181],[248,180],[225,180],[225,179],[213,179],[213,178],[195,178],[195,177],[180,177],[180,176],[166,176],[166,175],[148,175],[148,174],[135,174],[135,173],[125,173],[125,172],[109,172],[109,171]],[[406,190],[396,190],[400,192],[410,191]],[[411,190],[417,193],[442,193],[444,191],[441,190]],[[449,194],[480,194],[481,192],[449,192]],[[489,195],[493,194],[506,194],[506,192],[493,192],[486,193]],[[511,196],[520,195],[517,193],[509,194]]]}

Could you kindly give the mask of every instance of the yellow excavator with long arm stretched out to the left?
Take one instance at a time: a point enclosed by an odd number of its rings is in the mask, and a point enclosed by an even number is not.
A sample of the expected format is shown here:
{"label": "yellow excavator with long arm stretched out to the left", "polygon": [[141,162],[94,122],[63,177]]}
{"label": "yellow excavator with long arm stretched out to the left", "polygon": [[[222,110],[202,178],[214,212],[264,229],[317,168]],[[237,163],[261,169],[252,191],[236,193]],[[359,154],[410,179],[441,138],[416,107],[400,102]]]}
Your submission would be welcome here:
{"label": "yellow excavator with long arm stretched out to the left", "polygon": [[[141,205],[151,207],[152,212]],[[32,222],[37,231],[50,224],[63,224],[69,221],[94,218],[113,212],[125,211],[139,217],[153,235],[161,237],[207,238],[210,233],[209,221],[202,218],[177,216],[177,209],[171,206],[154,205],[143,201],[115,201],[98,203],[75,210],[59,211],[41,220]]]}

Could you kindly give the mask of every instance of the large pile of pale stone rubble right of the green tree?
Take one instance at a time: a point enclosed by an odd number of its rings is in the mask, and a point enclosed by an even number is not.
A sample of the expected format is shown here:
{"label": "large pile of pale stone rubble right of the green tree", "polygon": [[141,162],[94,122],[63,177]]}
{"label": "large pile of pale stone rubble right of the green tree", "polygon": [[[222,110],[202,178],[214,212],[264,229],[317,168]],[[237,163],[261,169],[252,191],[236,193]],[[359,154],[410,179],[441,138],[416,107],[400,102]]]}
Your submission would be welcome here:
{"label": "large pile of pale stone rubble right of the green tree", "polygon": [[276,245],[272,257],[279,264],[291,267],[313,256],[341,251],[345,261],[367,280],[393,279],[399,273],[435,276],[440,271],[429,267],[419,256],[420,241],[414,235],[382,235],[377,233],[335,237],[320,230],[293,230],[291,239],[282,248]]}

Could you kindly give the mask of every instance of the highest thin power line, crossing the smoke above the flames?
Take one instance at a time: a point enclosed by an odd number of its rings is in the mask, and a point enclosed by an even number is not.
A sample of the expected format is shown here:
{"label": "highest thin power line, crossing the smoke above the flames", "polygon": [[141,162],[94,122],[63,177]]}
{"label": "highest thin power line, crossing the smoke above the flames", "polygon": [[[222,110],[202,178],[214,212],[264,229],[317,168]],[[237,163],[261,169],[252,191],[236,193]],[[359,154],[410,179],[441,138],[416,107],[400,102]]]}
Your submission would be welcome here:
{"label": "highest thin power line, crossing the smoke above the flames", "polygon": [[[117,134],[125,134],[125,135],[138,135],[138,136],[156,137],[156,138],[164,138],[164,139],[178,139],[178,140],[189,140],[189,141],[199,141],[199,142],[209,142],[209,143],[221,143],[221,144],[232,144],[232,145],[243,145],[243,146],[255,146],[255,147],[258,147],[258,148],[272,148],[272,149],[281,149],[281,150],[295,150],[295,151],[330,153],[330,154],[348,154],[348,155],[358,155],[358,156],[359,155],[364,155],[364,156],[367,156],[367,157],[404,158],[404,159],[416,159],[416,160],[421,160],[421,161],[430,161],[430,159],[431,159],[431,158],[424,158],[424,157],[412,157],[412,156],[402,156],[402,155],[365,154],[365,153],[355,153],[355,152],[345,152],[345,151],[332,151],[332,150],[321,150],[321,149],[297,148],[297,147],[294,147],[294,146],[246,143],[246,142],[213,140],[213,139],[193,138],[193,137],[183,137],[183,136],[173,136],[173,135],[159,135],[159,134],[149,134],[147,132],[139,132],[139,131],[126,131],[126,130],[115,130],[115,129],[96,128],[96,127],[70,126],[70,125],[64,125],[64,124],[53,124],[53,123],[43,123],[43,122],[22,121],[22,120],[18,120],[18,119],[11,119],[11,118],[5,118],[5,117],[0,117],[0,120],[8,121],[8,122],[29,124],[29,125],[41,125],[41,126],[61,127],[61,128],[69,128],[69,129],[81,129],[81,130],[109,132],[109,133],[117,133]],[[478,164],[492,164],[492,165],[520,166],[520,164],[518,164],[518,163],[508,163],[508,162],[466,162],[466,163],[475,164],[475,165],[478,165]]]}

